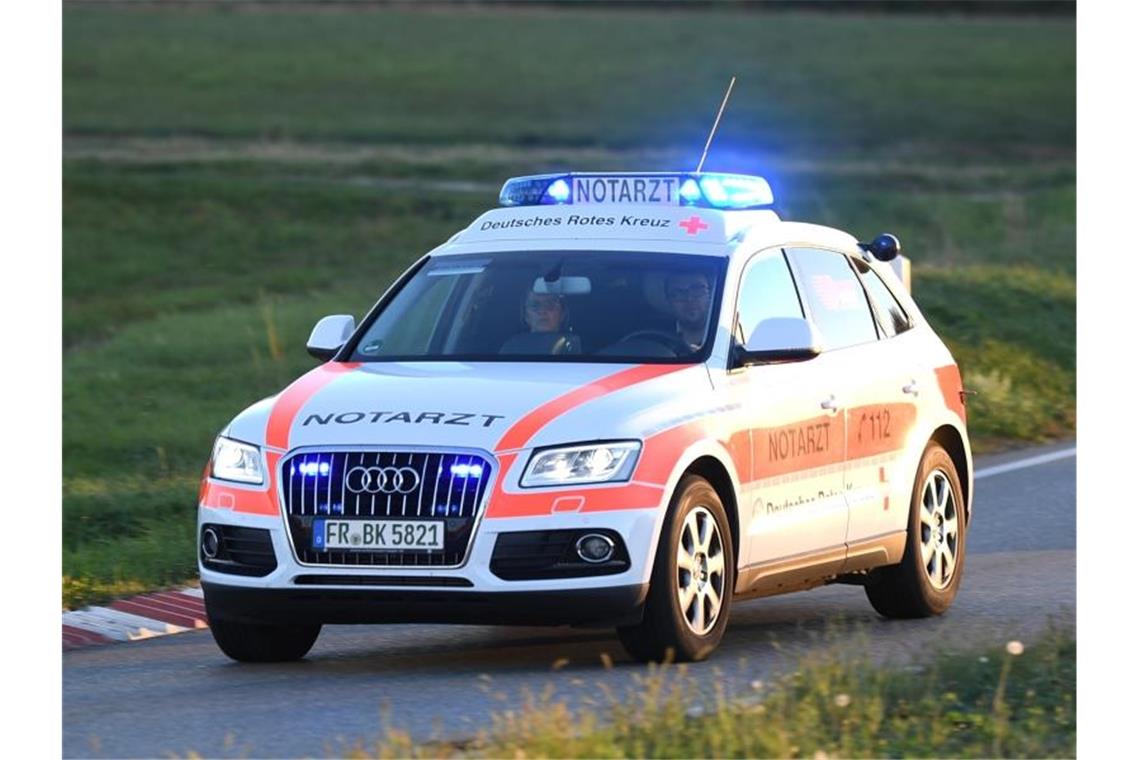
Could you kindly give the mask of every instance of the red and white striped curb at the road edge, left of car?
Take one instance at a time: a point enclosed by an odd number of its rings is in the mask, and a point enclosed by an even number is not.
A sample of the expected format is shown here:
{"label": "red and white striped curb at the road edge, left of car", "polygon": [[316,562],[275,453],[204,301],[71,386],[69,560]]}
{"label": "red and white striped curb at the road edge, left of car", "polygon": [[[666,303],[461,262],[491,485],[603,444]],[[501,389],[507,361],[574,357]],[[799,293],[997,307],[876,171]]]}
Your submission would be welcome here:
{"label": "red and white striped curb at the road edge, left of car", "polygon": [[63,643],[65,649],[74,649],[202,628],[207,628],[202,589],[192,587],[116,599],[105,607],[65,612]]}

